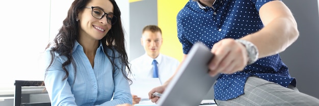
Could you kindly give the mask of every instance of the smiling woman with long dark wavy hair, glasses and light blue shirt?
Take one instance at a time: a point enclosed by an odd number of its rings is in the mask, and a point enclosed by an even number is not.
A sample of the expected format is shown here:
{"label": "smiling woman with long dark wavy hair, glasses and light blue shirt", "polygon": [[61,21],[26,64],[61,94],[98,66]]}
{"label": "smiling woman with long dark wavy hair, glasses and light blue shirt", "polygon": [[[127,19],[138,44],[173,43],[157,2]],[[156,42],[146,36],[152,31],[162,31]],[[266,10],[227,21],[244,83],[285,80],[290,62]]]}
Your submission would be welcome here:
{"label": "smiling woman with long dark wavy hair, glasses and light blue shirt", "polygon": [[120,15],[114,0],[72,3],[44,54],[51,105],[132,104]]}

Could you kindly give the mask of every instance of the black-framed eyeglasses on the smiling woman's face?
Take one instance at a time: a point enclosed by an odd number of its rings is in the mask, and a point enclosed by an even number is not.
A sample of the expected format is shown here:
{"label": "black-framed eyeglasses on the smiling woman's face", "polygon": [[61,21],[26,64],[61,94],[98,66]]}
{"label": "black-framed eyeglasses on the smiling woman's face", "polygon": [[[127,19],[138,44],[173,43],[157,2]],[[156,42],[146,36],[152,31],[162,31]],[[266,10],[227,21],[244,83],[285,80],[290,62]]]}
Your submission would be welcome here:
{"label": "black-framed eyeglasses on the smiling woman's face", "polygon": [[96,19],[102,19],[104,15],[107,14],[107,21],[109,24],[115,24],[117,21],[117,17],[114,14],[105,13],[103,10],[101,10],[98,7],[86,7],[86,8],[92,8],[92,16]]}

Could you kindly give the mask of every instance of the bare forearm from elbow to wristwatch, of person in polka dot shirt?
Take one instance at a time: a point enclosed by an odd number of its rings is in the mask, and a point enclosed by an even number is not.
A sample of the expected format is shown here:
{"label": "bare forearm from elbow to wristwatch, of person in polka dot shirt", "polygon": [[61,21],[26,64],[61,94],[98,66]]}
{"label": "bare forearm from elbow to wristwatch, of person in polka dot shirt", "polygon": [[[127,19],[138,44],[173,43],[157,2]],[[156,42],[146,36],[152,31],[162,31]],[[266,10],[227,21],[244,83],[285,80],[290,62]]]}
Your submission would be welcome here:
{"label": "bare forearm from elbow to wristwatch, of person in polka dot shirt", "polygon": [[256,45],[259,51],[258,58],[275,55],[297,40],[299,32],[297,26],[292,23],[286,18],[275,19],[262,30],[242,39]]}

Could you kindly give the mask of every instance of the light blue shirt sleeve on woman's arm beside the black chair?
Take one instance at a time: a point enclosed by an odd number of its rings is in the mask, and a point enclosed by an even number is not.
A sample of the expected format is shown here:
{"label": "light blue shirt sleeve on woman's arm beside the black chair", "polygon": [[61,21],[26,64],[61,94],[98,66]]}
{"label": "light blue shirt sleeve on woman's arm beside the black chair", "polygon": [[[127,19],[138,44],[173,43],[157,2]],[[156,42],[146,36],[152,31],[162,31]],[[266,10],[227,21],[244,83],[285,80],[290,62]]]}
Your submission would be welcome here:
{"label": "light blue shirt sleeve on woman's arm beside the black chair", "polygon": [[[46,50],[44,54],[44,64],[48,66],[51,62],[50,51]],[[55,54],[52,65],[46,72],[44,83],[49,94],[52,105],[76,105],[75,98],[71,92],[71,87],[67,79],[62,80],[66,73],[62,69],[62,59]],[[46,70],[46,68],[44,69]]]}

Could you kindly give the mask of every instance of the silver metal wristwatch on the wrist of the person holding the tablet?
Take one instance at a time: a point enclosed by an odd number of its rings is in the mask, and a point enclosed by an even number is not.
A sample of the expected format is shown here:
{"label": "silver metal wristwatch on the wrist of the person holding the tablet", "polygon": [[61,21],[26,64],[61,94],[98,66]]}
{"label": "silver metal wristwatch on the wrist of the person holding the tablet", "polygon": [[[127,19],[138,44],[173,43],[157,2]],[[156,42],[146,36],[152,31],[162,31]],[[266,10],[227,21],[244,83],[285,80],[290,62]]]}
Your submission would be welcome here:
{"label": "silver metal wristwatch on the wrist of the person holding the tablet", "polygon": [[247,55],[248,55],[247,65],[251,65],[255,63],[259,55],[257,47],[253,43],[247,40],[236,39],[236,41],[242,43],[246,47]]}

